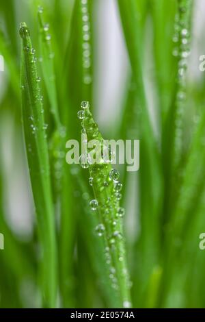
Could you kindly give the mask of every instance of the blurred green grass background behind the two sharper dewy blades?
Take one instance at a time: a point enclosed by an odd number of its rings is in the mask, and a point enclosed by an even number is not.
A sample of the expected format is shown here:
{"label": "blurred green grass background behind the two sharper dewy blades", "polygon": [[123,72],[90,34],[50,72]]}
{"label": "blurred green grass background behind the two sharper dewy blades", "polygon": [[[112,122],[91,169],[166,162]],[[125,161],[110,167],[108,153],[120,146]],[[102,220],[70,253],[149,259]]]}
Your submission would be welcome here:
{"label": "blurred green grass background behind the two sharper dewy blades", "polygon": [[105,138],[140,140],[139,171],[118,166],[133,307],[204,307],[205,252],[199,248],[205,230],[203,4],[1,0],[1,308],[51,306],[44,301],[41,223],[23,134],[23,21],[42,79],[55,208],[55,306],[118,306],[107,288],[96,218],[88,207],[93,195],[88,174],[65,160],[66,140],[80,137],[77,111],[86,100]]}

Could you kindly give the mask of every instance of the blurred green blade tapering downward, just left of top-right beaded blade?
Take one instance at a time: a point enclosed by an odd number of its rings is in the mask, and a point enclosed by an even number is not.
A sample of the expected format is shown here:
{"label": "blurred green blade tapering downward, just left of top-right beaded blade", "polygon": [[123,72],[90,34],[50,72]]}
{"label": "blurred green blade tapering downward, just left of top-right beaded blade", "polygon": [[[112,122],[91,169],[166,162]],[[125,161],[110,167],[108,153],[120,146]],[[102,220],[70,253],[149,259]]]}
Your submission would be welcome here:
{"label": "blurred green blade tapering downward, just left of top-right beaded blade", "polygon": [[[151,0],[151,13],[154,27],[154,61],[156,65],[156,82],[159,93],[161,129],[165,126],[165,120],[172,103],[171,95],[176,64],[174,64],[174,14],[176,13],[176,1],[169,3],[167,10],[166,0]],[[172,40],[173,38],[173,40]],[[163,136],[163,134],[162,134]]]}

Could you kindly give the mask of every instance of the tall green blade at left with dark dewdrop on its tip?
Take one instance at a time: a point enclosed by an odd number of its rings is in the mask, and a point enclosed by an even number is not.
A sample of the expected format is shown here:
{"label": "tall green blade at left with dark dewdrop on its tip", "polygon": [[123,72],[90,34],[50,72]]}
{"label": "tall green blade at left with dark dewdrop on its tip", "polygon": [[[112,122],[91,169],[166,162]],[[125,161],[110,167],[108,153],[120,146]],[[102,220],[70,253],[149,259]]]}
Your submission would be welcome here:
{"label": "tall green blade at left with dark dewdrop on its tip", "polygon": [[33,199],[38,216],[38,230],[42,245],[42,296],[44,306],[55,307],[57,251],[49,155],[39,87],[40,77],[38,77],[36,62],[33,59],[33,47],[29,29],[27,29],[25,23],[20,25],[20,37],[22,38],[21,89],[23,127]]}

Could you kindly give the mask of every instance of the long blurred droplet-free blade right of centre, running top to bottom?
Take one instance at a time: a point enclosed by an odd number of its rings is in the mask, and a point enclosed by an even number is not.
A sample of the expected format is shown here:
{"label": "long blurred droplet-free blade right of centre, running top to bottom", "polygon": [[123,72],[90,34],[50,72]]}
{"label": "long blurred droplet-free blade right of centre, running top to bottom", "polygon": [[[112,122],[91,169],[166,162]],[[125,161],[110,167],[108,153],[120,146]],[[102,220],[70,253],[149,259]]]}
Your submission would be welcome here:
{"label": "long blurred droplet-free blade right of centre, running top to bottom", "polygon": [[[141,234],[137,245],[136,269],[133,301],[144,305],[143,296],[146,296],[148,280],[152,269],[158,262],[159,252],[159,214],[161,210],[162,181],[159,169],[159,151],[156,148],[154,133],[148,115],[146,93],[143,82],[143,35],[139,22],[139,5],[137,1],[118,0],[124,37],[128,49],[133,71],[134,86],[136,91],[137,111],[134,117],[139,117],[140,144],[140,220]],[[140,288],[137,287],[140,285]],[[142,302],[140,302],[142,301]],[[143,303],[143,304],[142,304]]]}

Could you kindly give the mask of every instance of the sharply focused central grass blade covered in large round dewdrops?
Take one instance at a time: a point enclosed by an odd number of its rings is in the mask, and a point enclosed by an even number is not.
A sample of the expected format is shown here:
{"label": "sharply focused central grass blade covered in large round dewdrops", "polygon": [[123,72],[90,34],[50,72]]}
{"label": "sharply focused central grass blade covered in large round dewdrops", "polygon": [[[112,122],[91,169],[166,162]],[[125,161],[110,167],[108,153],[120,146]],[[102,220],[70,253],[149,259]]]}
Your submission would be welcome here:
{"label": "sharply focused central grass blade covered in large round dewdrops", "polygon": [[[98,145],[94,151],[84,153],[80,157],[82,167],[87,167],[87,160],[90,153],[96,153],[97,163],[90,163],[90,182],[92,182],[95,199],[90,201],[92,210],[98,208],[99,223],[96,226],[96,233],[105,239],[105,252],[109,258],[109,265],[115,269],[115,279],[113,276],[113,287],[119,289],[122,307],[131,307],[131,295],[129,290],[129,277],[126,264],[126,250],[124,245],[124,232],[122,227],[122,216],[124,209],[120,208],[118,193],[122,189],[122,184],[118,182],[119,173],[112,169],[110,163],[102,159],[102,153],[109,154],[109,149],[103,142],[102,136],[98,131],[98,125],[94,122],[89,109],[88,102],[82,102],[84,110],[79,111],[79,119],[82,119],[83,135],[89,142],[94,140]],[[112,158],[111,156],[107,156]],[[87,164],[88,165],[88,164]],[[115,282],[114,282],[115,281]]]}

